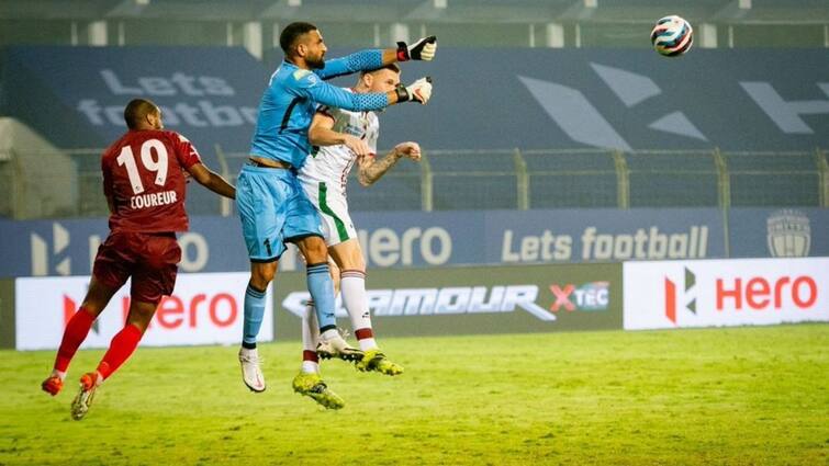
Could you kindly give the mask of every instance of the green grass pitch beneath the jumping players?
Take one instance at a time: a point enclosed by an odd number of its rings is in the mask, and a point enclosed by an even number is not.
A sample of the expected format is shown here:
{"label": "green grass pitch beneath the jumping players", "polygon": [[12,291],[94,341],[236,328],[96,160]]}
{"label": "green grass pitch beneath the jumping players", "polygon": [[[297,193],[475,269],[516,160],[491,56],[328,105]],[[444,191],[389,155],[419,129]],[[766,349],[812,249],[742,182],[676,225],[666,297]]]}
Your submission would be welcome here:
{"label": "green grass pitch beneath the jumping players", "polygon": [[[382,337],[382,336],[381,336]],[[346,407],[293,394],[299,342],[139,348],[69,418],[53,352],[0,352],[0,465],[827,465],[829,326],[380,339],[399,377],[323,362]]]}

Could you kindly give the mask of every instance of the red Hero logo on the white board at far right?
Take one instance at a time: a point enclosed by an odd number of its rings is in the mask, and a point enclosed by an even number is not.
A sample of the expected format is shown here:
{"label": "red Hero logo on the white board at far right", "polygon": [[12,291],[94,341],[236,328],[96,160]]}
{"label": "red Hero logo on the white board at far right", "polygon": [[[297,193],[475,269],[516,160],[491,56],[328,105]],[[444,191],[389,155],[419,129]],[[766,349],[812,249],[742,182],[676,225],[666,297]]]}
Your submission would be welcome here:
{"label": "red Hero logo on the white board at far right", "polygon": [[[697,315],[696,297],[690,295],[695,285],[696,276],[685,269],[684,298],[677,296],[677,286],[669,277],[664,279],[665,317],[673,325],[676,323],[677,305],[682,302],[693,315]],[[808,275],[781,276],[768,280],[762,276],[749,279],[732,277],[714,281],[714,308],[718,314],[726,311],[740,312],[742,310],[781,310],[794,306],[800,310],[810,309],[818,300],[818,285]]]}

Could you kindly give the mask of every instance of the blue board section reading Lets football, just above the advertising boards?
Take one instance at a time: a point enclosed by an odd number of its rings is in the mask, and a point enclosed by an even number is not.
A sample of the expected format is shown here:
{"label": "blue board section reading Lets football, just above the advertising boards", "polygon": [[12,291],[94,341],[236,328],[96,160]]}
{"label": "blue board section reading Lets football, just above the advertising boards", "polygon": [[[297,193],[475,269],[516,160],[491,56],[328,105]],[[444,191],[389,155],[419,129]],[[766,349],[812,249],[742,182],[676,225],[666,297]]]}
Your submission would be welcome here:
{"label": "blue board section reading Lets football, just above the advertising boards", "polygon": [[725,254],[714,208],[502,211],[486,214],[486,259],[497,262],[620,262]]}

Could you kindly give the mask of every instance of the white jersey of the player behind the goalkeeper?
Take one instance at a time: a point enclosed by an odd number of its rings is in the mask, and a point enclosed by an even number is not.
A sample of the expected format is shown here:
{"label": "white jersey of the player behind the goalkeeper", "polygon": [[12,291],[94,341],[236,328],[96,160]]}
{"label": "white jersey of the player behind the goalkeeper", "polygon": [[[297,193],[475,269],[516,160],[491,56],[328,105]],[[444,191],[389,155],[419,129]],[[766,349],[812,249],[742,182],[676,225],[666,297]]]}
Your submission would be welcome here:
{"label": "white jersey of the player behind the goalkeeper", "polygon": [[[350,89],[348,91],[354,92]],[[380,122],[374,112],[351,112],[321,106],[317,113],[323,113],[334,120],[333,130],[363,139],[369,146],[372,157],[377,154]],[[356,161],[357,156],[344,144],[323,146],[305,159],[305,164],[300,169],[299,178],[305,185],[324,182],[329,190],[337,190],[345,196],[348,173]]]}

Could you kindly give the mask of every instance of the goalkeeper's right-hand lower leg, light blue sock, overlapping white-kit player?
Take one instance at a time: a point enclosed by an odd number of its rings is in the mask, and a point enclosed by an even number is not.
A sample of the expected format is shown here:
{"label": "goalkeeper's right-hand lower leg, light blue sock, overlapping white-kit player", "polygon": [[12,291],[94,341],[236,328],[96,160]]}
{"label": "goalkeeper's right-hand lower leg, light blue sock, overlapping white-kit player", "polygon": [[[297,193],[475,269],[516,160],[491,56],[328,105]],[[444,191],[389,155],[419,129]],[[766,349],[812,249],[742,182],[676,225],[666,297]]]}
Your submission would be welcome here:
{"label": "goalkeeper's right-hand lower leg, light blue sock, overlapping white-kit player", "polygon": [[296,247],[305,258],[307,287],[314,300],[320,323],[317,354],[323,359],[362,360],[362,351],[351,348],[337,331],[337,321],[334,317],[334,286],[325,241],[318,236],[310,236],[298,240]]}

